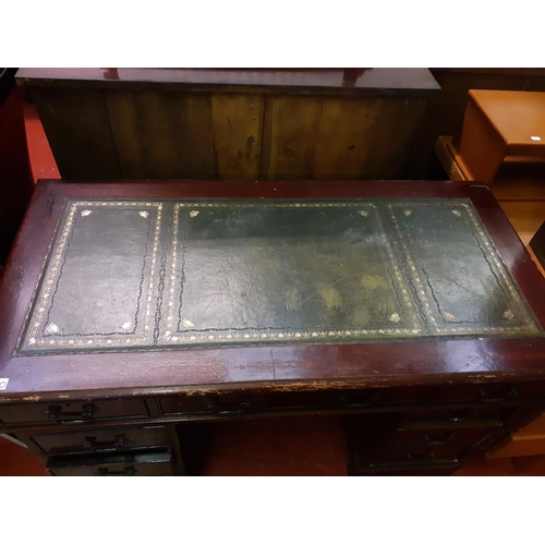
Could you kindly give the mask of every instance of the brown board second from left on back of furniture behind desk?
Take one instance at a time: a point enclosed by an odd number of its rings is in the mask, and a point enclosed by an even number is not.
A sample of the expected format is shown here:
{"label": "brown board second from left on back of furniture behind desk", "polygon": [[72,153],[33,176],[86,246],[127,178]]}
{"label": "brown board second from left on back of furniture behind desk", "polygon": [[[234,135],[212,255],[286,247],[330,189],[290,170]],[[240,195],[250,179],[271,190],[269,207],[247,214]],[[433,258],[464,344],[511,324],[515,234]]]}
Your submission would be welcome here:
{"label": "brown board second from left on back of furniture behind desk", "polygon": [[122,178],[215,178],[209,94],[105,96]]}

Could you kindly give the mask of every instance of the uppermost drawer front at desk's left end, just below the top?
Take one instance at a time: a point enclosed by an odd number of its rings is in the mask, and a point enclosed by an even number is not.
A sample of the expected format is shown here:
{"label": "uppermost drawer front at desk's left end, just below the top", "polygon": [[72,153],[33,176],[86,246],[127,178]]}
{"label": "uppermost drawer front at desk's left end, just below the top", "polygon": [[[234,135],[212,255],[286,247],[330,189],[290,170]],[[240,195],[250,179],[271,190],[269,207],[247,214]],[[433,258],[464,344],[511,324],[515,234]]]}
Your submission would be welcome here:
{"label": "uppermost drawer front at desk's left end, just below the top", "polygon": [[23,422],[82,423],[99,419],[147,415],[147,407],[143,399],[101,399],[0,405],[0,421],[4,424]]}

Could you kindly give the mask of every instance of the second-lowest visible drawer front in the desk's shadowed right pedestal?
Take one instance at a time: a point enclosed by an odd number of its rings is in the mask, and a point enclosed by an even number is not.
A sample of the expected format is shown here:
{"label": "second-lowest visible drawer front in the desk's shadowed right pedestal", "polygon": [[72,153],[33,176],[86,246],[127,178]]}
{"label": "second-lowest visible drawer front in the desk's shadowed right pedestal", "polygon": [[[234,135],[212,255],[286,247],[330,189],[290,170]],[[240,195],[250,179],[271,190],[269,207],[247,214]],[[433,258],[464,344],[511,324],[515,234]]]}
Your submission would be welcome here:
{"label": "second-lowest visible drawer front in the desk's shadowed right pedestal", "polygon": [[475,444],[485,437],[493,428],[462,427],[459,429],[398,429],[385,441],[393,445],[428,445],[431,447],[451,444]]}

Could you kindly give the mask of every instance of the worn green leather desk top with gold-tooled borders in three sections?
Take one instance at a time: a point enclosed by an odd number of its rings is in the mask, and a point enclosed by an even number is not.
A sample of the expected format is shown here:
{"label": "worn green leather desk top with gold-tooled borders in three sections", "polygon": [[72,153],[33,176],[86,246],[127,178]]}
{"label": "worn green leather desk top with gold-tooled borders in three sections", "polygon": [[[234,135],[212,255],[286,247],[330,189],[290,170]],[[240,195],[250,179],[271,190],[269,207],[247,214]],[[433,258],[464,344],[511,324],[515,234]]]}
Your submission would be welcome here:
{"label": "worn green leather desk top with gold-tooled borders in three sections", "polygon": [[19,352],[541,335],[465,199],[68,201]]}

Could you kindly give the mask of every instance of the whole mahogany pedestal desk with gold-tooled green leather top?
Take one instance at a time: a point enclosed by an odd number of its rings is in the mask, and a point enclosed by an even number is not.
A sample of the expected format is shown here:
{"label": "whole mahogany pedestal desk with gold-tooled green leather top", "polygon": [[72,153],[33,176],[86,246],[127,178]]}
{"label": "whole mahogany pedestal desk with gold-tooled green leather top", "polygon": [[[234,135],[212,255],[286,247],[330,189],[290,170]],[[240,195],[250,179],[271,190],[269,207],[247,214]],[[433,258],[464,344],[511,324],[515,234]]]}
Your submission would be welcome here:
{"label": "whole mahogany pedestal desk with gold-tooled green leather top", "polygon": [[485,186],[40,181],[0,433],[169,475],[199,423],[339,414],[350,474],[450,474],[545,407],[545,279]]}

